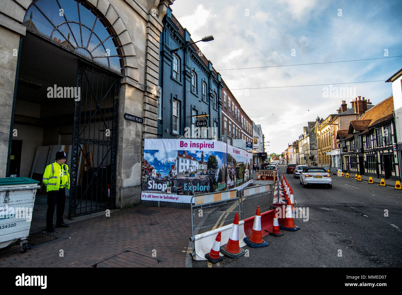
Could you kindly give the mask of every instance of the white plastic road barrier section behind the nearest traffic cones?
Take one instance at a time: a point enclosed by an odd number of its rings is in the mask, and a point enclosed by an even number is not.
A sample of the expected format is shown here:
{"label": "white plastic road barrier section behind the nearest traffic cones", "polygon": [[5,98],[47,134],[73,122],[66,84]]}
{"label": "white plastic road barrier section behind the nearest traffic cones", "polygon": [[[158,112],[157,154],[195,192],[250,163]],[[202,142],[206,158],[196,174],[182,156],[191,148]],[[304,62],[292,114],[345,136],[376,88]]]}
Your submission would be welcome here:
{"label": "white plastic road barrier section behind the nearest traffic cones", "polygon": [[[193,241],[193,252],[191,255],[194,260],[207,260],[205,258],[205,254],[211,251],[213,242],[215,242],[215,238],[218,232],[222,232],[221,234],[221,246],[227,244],[229,241],[230,231],[232,230],[233,224],[228,224],[223,226],[222,228],[216,228],[215,230],[210,230],[209,232],[204,232],[202,234],[196,234],[191,237],[190,240]],[[243,241],[243,238],[246,237],[244,233],[244,220],[239,220],[239,246],[244,247],[246,243]],[[222,253],[219,252],[220,256],[223,256]]]}

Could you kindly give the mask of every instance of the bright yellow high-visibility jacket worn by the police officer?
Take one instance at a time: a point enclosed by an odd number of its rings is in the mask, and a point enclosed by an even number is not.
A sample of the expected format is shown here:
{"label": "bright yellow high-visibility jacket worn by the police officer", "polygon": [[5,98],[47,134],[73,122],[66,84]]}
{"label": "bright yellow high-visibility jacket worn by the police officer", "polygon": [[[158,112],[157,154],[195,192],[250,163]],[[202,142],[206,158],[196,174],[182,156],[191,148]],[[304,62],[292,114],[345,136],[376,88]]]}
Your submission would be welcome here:
{"label": "bright yellow high-visibility jacket worn by the police officer", "polygon": [[58,191],[66,187],[70,189],[70,174],[66,164],[59,165],[57,162],[46,166],[43,173],[43,183],[46,185],[46,192]]}

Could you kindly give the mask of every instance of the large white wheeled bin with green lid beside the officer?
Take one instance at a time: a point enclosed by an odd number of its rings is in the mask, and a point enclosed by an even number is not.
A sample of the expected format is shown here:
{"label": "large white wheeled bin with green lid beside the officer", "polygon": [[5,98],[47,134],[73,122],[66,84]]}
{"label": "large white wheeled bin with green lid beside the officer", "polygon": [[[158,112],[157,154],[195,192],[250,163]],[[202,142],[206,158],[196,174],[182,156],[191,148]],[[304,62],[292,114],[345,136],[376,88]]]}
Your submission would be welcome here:
{"label": "large white wheeled bin with green lid beside the officer", "polygon": [[38,183],[27,177],[0,178],[0,248],[20,240],[21,252],[27,251]]}

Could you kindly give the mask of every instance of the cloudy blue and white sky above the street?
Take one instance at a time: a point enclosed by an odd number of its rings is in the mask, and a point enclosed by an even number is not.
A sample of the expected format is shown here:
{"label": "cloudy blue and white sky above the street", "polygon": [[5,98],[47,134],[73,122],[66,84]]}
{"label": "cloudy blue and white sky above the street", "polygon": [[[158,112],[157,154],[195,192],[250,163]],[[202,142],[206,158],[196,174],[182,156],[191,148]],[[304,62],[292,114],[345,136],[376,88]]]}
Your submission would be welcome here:
{"label": "cloudy blue and white sky above the street", "polygon": [[[402,55],[400,0],[176,0],[170,7],[194,41],[213,35],[197,45],[261,124],[269,153],[284,151],[308,121],[326,118],[342,100],[351,107],[353,94],[326,98],[323,87],[355,87],[377,104],[392,95],[384,81],[402,68],[402,57],[389,58]],[[356,59],[372,60],[328,63]],[[272,67],[304,63],[324,64]],[[250,67],[263,68],[240,69]],[[316,84],[325,85],[282,87]],[[260,87],[281,88],[253,89]]]}

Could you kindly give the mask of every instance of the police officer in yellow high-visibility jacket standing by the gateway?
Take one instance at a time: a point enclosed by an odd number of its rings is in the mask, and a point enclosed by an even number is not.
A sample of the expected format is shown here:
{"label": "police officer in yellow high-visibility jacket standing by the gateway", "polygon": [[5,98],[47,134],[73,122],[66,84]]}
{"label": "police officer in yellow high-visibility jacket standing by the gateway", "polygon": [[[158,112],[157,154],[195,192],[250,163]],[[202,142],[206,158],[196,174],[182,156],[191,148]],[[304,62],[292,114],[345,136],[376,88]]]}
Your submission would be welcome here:
{"label": "police officer in yellow high-visibility jacket standing by the gateway", "polygon": [[66,153],[58,151],[55,162],[47,165],[45,173],[43,173],[43,183],[46,185],[47,191],[46,230],[48,232],[55,232],[53,228],[53,214],[56,204],[56,226],[62,228],[68,228],[69,226],[63,222],[66,187],[70,189],[70,174],[68,173],[66,160]]}

